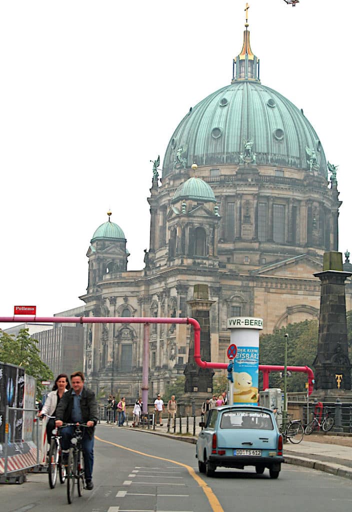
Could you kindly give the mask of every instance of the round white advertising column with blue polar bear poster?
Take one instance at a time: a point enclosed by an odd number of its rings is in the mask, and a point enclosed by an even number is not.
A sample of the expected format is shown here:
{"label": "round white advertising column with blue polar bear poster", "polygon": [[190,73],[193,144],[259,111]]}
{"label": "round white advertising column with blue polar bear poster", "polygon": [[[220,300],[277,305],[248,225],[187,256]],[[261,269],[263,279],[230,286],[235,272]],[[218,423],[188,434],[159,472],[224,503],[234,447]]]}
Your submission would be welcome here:
{"label": "round white advertising column with blue polar bear poster", "polygon": [[[258,405],[259,331],[262,318],[240,316],[228,318],[231,344],[236,347],[233,359],[233,403]],[[230,397],[231,400],[231,397]]]}

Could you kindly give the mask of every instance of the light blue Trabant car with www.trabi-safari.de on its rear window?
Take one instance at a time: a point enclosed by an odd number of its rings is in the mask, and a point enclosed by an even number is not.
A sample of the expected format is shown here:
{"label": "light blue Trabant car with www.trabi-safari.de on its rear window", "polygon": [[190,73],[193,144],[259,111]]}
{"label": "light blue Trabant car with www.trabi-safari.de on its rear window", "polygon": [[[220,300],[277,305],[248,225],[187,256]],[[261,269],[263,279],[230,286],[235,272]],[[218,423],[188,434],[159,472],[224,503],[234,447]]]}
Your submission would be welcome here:
{"label": "light blue Trabant car with www.trabi-safari.de on its rear window", "polygon": [[200,473],[213,476],[217,467],[243,470],[254,466],[257,474],[269,469],[280,473],[283,438],[273,412],[264,407],[222,406],[211,409],[198,436],[196,458]]}

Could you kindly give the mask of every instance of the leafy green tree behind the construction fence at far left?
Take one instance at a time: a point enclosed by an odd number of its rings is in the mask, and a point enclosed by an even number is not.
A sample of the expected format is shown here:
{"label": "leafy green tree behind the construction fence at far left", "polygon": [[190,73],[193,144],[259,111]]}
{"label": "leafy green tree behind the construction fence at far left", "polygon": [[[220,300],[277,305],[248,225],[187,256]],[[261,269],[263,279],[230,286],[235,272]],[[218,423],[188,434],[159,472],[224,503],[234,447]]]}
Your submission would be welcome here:
{"label": "leafy green tree behind the construction fence at far left", "polygon": [[17,337],[0,329],[0,361],[20,366],[37,379],[37,398],[45,389],[41,381],[54,378],[49,366],[40,359],[38,340],[30,336],[28,329],[21,329]]}

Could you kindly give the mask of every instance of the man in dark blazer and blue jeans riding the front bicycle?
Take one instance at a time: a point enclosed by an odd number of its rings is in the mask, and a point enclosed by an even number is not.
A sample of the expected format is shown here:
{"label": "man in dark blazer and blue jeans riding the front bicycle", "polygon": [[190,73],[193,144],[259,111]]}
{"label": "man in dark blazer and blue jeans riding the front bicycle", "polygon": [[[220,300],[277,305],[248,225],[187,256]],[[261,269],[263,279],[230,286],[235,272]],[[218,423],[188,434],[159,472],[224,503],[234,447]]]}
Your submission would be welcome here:
{"label": "man in dark blazer and blue jeans riding the front bicycle", "polygon": [[[98,422],[98,405],[95,393],[84,387],[82,372],[74,372],[71,375],[71,387],[72,390],[63,395],[57,406],[55,426],[62,426],[63,423],[86,423],[89,427],[84,429],[82,445],[85,488],[91,490],[93,489],[94,429]],[[63,461],[65,462],[73,437],[73,427],[63,427],[61,435]]]}

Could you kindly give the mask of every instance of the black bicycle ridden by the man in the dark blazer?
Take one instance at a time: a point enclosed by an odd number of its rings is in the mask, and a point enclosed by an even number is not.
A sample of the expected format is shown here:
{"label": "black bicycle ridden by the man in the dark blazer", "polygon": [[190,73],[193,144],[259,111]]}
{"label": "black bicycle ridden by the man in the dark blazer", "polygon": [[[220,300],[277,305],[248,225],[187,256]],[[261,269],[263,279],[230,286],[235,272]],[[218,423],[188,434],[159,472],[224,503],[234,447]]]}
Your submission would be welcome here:
{"label": "black bicycle ridden by the man in the dark blazer", "polygon": [[84,458],[83,458],[83,428],[87,425],[84,423],[64,423],[64,426],[74,426],[74,435],[71,438],[71,448],[69,452],[67,464],[67,500],[69,503],[73,501],[75,484],[77,483],[78,496],[82,496],[85,486],[84,481]]}

